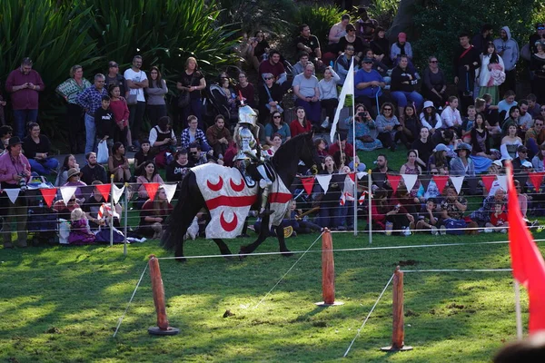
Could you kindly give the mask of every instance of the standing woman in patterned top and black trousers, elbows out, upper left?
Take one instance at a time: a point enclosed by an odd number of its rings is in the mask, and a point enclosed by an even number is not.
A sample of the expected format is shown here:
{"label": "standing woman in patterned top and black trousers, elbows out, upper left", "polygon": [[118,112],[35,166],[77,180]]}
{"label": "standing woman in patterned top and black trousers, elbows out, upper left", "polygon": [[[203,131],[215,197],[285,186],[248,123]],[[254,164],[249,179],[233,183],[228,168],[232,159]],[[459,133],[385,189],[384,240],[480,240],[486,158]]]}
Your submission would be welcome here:
{"label": "standing woman in patterned top and black trousers, elbows out, upper left", "polygon": [[84,68],[76,64],[70,69],[70,78],[59,84],[56,92],[63,96],[66,103],[66,123],[70,152],[81,153],[85,149],[84,139],[84,111],[77,103],[78,94],[84,92],[92,84],[84,78]]}

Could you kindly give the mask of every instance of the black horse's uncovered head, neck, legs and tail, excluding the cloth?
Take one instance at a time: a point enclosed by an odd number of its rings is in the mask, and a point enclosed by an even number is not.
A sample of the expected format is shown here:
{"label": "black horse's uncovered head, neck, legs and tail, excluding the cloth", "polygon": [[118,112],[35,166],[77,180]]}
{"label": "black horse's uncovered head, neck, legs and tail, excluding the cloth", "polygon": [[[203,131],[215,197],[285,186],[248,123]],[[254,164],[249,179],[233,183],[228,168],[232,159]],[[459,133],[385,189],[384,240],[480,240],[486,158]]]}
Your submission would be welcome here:
{"label": "black horse's uncovered head, neck, legs and tail, excluding the cloth", "polygon": [[[317,165],[321,165],[321,161],[316,153],[316,149],[312,142],[312,133],[302,133],[285,142],[274,153],[271,159],[272,169],[276,172],[287,188],[290,188],[295,175],[299,161],[304,162],[307,168],[317,172]],[[194,216],[201,209],[206,209],[206,203],[203,199],[203,194],[199,190],[196,182],[195,174],[188,172],[183,178],[183,181],[178,187],[179,200],[174,207],[166,230],[163,233],[161,245],[165,250],[174,250],[175,256],[179,257],[179,261],[183,261],[183,236],[193,222]],[[269,225],[270,216],[263,217],[260,234],[252,244],[242,246],[239,254],[252,253],[259,245],[269,236],[269,231],[266,226]],[[291,255],[290,250],[286,247],[283,237],[283,229],[276,227],[276,236],[280,245],[281,252],[285,255]],[[221,239],[213,239],[218,245],[223,255],[231,255],[231,250]]]}

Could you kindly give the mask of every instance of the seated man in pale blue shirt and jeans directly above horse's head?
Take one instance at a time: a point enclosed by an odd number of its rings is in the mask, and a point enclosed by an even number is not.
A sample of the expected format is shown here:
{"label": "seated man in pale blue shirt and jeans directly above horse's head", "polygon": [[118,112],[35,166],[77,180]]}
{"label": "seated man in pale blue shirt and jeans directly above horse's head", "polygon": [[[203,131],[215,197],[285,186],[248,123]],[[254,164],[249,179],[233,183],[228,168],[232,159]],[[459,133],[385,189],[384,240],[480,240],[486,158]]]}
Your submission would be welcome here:
{"label": "seated man in pale blue shirt and jeans directly above horse's head", "polygon": [[295,106],[302,106],[308,119],[316,127],[320,125],[322,108],[320,105],[320,89],[318,78],[312,75],[314,66],[307,64],[302,74],[293,78],[293,93],[297,97]]}

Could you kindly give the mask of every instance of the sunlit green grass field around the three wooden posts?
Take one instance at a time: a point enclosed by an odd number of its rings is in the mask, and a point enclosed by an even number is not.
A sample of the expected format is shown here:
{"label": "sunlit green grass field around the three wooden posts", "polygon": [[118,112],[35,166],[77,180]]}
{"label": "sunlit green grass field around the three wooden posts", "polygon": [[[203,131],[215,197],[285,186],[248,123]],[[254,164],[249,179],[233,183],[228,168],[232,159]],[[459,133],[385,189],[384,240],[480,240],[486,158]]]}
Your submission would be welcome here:
{"label": "sunlit green grass field around the three wooden posts", "polygon": [[[542,238],[544,233],[536,234]],[[306,250],[317,235],[288,240]],[[167,313],[181,329],[175,337],[152,337],[154,302],[145,273],[116,338],[112,338],[151,253],[171,256],[158,242],[114,248],[30,248],[2,250],[0,361],[6,362],[172,362],[172,361],[401,361],[486,362],[515,338],[510,272],[405,274],[405,343],[414,350],[383,353],[391,339],[391,287],[356,339],[398,264],[405,270],[510,268],[503,234],[478,236],[374,236],[372,247],[467,242],[465,246],[335,253],[336,299],[341,307],[319,308],[321,254],[254,256],[243,261],[161,260]],[[244,240],[248,241],[248,239]],[[240,240],[229,242],[237,250]],[[366,235],[333,234],[335,249],[369,247]],[[321,249],[318,240],[312,251]],[[259,252],[278,250],[267,240]],[[545,249],[541,249],[545,250]],[[186,244],[186,255],[217,254],[212,241]],[[523,321],[528,319],[523,291]],[[223,318],[226,310],[233,315]]]}

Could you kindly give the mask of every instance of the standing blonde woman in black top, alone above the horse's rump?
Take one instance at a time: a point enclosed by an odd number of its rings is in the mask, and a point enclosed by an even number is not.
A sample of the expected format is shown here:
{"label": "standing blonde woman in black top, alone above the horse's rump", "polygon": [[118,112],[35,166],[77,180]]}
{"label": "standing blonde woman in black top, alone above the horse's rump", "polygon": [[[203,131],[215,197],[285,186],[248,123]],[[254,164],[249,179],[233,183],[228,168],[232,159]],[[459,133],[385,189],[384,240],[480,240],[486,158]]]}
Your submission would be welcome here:
{"label": "standing blonde woman in black top, alone above the horse's rump", "polygon": [[190,115],[195,115],[199,122],[199,127],[204,128],[203,102],[201,101],[201,91],[206,88],[206,80],[199,71],[199,64],[193,57],[185,61],[185,70],[180,76],[180,81],[176,83],[176,88],[183,92],[189,92],[190,102],[181,110],[181,121],[184,123]]}

